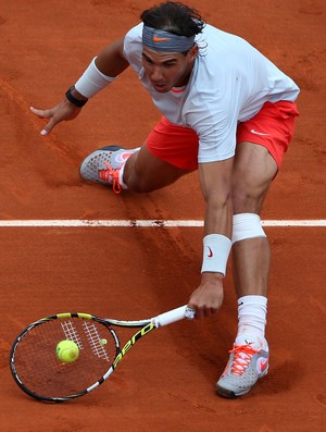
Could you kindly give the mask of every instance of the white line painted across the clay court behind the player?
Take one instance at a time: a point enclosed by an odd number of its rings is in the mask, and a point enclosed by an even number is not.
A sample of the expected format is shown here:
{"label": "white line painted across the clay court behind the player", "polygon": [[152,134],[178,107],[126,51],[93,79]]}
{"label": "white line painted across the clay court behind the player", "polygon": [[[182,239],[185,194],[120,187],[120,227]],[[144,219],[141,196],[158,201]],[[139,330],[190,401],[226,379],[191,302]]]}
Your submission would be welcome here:
{"label": "white line painted across the clay court behind the player", "polygon": [[[263,226],[326,226],[325,219],[312,220],[265,220],[262,221]],[[114,227],[114,226],[184,226],[197,227],[203,226],[203,221],[199,220],[11,220],[0,221],[0,227],[74,227],[74,226],[89,226],[89,227]]]}

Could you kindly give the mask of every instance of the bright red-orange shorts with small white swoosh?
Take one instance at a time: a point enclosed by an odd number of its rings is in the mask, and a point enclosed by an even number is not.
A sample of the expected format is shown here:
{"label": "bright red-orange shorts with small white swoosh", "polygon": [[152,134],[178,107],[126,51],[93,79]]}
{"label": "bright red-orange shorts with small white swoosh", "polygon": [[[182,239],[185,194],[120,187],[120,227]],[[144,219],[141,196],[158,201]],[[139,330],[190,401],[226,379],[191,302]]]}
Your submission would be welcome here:
{"label": "bright red-orange shorts with small white swoosh", "polygon": [[[237,143],[249,141],[265,147],[280,168],[284,153],[293,138],[298,115],[294,102],[266,102],[252,119],[239,123]],[[175,125],[163,116],[146,144],[156,158],[181,170],[197,170],[198,141],[193,129]]]}

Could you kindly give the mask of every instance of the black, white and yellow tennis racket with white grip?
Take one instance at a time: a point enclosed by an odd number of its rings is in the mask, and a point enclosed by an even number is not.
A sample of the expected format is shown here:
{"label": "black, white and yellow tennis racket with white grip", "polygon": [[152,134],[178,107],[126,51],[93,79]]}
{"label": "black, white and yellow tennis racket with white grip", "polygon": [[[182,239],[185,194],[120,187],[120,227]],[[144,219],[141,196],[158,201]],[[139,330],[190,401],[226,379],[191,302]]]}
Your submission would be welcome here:
{"label": "black, white and yellow tennis racket with white grip", "polygon": [[[183,306],[138,321],[103,319],[89,313],[42,318],[15,338],[10,354],[11,372],[17,385],[38,400],[71,400],[102,384],[141,337],[184,318],[195,318],[195,310]],[[112,326],[139,330],[121,346],[117,330]],[[75,361],[63,362],[57,356],[57,345],[65,340],[79,348]]]}

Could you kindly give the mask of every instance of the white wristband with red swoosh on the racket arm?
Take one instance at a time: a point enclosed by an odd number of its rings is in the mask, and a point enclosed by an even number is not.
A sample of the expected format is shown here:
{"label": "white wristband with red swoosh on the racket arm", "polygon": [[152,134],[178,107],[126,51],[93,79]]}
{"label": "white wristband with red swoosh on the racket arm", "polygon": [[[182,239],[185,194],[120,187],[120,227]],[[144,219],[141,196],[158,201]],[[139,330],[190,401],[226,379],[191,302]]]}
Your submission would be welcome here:
{"label": "white wristband with red swoosh on the racket arm", "polygon": [[226,274],[226,266],[231,249],[231,240],[225,235],[209,234],[203,238],[203,260],[201,272]]}

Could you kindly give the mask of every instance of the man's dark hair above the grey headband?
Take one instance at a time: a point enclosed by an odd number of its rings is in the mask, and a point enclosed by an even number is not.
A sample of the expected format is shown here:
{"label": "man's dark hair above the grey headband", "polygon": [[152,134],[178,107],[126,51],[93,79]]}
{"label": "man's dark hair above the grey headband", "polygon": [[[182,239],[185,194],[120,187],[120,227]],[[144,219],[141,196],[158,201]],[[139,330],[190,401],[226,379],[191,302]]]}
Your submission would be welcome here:
{"label": "man's dark hair above the grey headband", "polygon": [[140,18],[148,27],[187,37],[198,35],[205,25],[196,9],[178,1],[166,1],[147,9]]}

